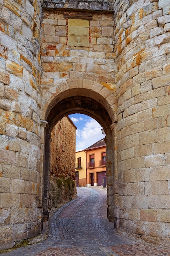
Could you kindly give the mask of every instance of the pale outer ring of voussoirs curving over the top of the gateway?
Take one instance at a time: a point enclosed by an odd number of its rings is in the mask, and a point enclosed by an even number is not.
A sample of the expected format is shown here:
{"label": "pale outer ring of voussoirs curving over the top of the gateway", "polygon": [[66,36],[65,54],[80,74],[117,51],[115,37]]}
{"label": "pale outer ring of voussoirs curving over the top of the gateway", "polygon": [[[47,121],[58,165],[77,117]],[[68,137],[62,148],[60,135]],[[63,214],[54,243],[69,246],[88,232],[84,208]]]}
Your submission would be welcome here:
{"label": "pale outer ring of voussoirs curving over the top of the gateway", "polygon": [[56,79],[52,86],[49,84],[45,87],[42,93],[41,119],[46,121],[50,110],[59,101],[78,95],[90,97],[101,103],[108,111],[112,123],[115,122],[117,102],[114,91],[89,79]]}

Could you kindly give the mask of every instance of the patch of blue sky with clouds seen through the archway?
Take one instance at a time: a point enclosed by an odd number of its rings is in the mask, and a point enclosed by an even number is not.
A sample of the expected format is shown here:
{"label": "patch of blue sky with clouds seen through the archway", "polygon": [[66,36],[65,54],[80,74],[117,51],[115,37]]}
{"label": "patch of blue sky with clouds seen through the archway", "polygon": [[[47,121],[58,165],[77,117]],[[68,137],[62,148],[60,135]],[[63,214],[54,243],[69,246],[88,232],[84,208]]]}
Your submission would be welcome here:
{"label": "patch of blue sky with clouds seen through the archway", "polygon": [[72,114],[69,117],[77,127],[76,152],[88,148],[105,137],[101,131],[102,126],[95,119],[83,114]]}

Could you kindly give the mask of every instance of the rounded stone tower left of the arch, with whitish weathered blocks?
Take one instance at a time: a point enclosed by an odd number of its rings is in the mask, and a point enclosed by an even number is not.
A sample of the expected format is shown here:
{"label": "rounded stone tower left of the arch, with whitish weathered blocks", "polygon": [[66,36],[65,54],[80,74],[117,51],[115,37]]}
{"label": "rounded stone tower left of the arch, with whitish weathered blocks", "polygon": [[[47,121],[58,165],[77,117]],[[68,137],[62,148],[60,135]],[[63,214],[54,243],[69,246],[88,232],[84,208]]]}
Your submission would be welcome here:
{"label": "rounded stone tower left of the arch, with whitish weathered blocks", "polygon": [[0,1],[0,248],[42,228],[38,0]]}

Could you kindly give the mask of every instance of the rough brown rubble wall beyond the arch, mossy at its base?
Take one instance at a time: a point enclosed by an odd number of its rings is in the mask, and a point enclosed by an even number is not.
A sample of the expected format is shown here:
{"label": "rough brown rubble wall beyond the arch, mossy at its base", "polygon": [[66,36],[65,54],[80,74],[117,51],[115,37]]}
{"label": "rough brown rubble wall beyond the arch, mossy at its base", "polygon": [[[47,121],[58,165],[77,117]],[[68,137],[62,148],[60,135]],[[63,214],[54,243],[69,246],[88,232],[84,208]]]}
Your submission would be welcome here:
{"label": "rough brown rubble wall beyond the arch, mossy at its base", "polygon": [[51,133],[49,207],[57,208],[75,198],[75,130],[69,117],[63,117]]}

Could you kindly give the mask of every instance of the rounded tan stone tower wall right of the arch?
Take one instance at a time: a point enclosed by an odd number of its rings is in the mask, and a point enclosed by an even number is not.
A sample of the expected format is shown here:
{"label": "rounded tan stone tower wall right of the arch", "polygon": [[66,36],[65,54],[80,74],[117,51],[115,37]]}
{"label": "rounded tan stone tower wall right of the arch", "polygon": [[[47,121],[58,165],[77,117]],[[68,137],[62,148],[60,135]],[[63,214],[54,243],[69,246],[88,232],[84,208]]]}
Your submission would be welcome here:
{"label": "rounded tan stone tower wall right of the arch", "polygon": [[125,236],[164,247],[170,244],[170,1],[131,2],[115,1],[115,224]]}

